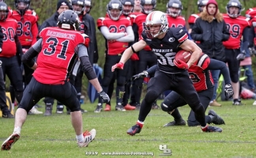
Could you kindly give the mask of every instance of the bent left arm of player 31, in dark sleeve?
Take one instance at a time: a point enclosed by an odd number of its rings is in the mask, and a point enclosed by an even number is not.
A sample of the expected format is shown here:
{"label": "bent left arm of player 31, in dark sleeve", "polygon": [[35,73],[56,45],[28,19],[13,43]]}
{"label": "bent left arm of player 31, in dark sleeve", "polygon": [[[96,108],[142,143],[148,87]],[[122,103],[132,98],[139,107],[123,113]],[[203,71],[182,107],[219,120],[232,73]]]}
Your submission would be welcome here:
{"label": "bent left arm of player 31, in dark sleeve", "polygon": [[32,68],[32,70],[36,70],[37,64],[34,61],[34,58],[42,50],[42,41],[43,40],[40,39],[35,44],[33,44],[32,47],[30,47],[28,51],[21,58],[21,62],[26,64],[28,67]]}

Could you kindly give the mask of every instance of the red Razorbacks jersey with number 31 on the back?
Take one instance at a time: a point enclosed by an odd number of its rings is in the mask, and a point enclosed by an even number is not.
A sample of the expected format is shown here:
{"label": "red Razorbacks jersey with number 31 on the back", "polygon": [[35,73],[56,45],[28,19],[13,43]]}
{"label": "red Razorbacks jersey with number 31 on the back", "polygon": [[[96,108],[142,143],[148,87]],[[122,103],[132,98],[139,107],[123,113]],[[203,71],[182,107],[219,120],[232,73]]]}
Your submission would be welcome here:
{"label": "red Razorbacks jersey with number 31 on the back", "polygon": [[62,28],[43,28],[40,32],[42,50],[37,58],[37,68],[33,73],[36,81],[47,85],[60,85],[68,79],[72,70],[75,47],[85,43],[80,32]]}

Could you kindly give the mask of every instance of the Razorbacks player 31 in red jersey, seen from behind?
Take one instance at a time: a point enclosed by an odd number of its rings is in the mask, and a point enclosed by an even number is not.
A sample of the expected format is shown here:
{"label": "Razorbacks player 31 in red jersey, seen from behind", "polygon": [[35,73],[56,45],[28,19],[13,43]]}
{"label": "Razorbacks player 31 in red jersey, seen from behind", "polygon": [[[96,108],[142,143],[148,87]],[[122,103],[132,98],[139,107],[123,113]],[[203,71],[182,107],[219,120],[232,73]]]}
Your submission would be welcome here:
{"label": "Razorbacks player 31 in red jersey, seen from behind", "polygon": [[[58,17],[58,28],[43,28],[38,40],[23,55],[22,62],[35,69],[32,80],[25,88],[24,97],[17,107],[13,134],[2,144],[2,150],[11,149],[12,145],[21,136],[21,127],[24,124],[27,112],[44,96],[59,100],[70,108],[71,123],[77,137],[77,145],[86,147],[96,136],[96,130],[83,133],[82,115],[77,100],[77,92],[70,84],[69,75],[75,58],[80,58],[82,70],[88,81],[99,92],[104,102],[109,97],[103,91],[88,59],[85,47],[85,38],[77,32],[79,21],[77,13],[72,10],[62,12]],[[35,62],[32,58],[38,55]]]}

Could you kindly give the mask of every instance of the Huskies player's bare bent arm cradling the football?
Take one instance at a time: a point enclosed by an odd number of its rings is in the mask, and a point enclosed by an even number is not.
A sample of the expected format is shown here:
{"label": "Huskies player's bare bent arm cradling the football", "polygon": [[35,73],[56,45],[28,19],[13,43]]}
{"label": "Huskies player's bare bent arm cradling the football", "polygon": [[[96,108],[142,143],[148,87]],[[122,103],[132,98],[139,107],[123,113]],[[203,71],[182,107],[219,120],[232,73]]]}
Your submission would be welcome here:
{"label": "Huskies player's bare bent arm cradling the football", "polygon": [[185,51],[192,52],[190,60],[186,62],[188,67],[192,66],[194,62],[198,61],[198,58],[202,53],[201,48],[198,47],[198,45],[194,43],[192,40],[185,40],[179,47],[181,47]]}

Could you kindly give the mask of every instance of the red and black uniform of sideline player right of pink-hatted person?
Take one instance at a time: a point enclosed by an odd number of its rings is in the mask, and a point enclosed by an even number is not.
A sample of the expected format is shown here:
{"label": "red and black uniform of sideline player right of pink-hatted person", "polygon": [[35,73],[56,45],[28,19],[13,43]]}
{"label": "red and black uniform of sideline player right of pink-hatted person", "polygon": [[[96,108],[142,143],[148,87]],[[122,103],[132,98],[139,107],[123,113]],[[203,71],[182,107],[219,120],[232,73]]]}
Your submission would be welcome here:
{"label": "red and black uniform of sideline player right of pink-hatted person", "polygon": [[226,62],[228,63],[229,73],[232,82],[237,83],[239,81],[239,66],[240,61],[236,57],[241,53],[241,37],[243,36],[243,48],[245,51],[249,46],[249,28],[250,22],[246,17],[239,16],[236,18],[229,17],[228,14],[223,14],[224,21],[227,24],[227,28],[230,32],[229,39],[224,41]]}

